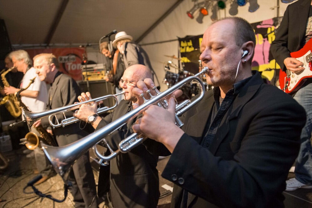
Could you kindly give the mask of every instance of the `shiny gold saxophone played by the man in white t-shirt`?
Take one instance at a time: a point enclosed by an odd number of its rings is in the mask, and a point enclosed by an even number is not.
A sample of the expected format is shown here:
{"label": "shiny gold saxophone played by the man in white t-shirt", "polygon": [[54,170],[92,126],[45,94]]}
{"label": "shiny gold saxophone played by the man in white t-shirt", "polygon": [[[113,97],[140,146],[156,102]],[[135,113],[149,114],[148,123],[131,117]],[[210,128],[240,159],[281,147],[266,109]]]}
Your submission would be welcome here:
{"label": "shiny gold saxophone played by the man in white t-shirt", "polygon": [[[8,72],[10,72],[12,69],[14,69],[14,67],[9,68],[7,71],[1,74],[1,79],[2,79],[4,87],[10,87],[9,82],[7,82],[7,79],[5,78],[5,75]],[[7,108],[7,110],[11,113],[11,115],[14,118],[17,118],[18,116],[21,115],[22,111],[19,108],[18,101],[13,94],[3,97],[2,100],[0,101],[0,105],[3,105],[3,104],[5,104],[5,107]]]}

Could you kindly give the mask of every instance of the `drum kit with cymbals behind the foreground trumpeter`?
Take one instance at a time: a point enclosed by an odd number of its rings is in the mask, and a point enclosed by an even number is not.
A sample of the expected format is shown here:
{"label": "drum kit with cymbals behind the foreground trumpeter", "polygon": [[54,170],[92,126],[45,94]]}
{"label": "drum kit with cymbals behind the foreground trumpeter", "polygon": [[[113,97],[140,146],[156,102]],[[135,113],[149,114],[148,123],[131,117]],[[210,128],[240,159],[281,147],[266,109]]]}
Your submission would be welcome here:
{"label": "drum kit with cymbals behind the foreground trumpeter", "polygon": [[[184,70],[184,63],[182,62],[182,69],[180,69],[176,64],[172,62],[173,59],[181,61],[180,58],[173,56],[164,55],[165,57],[171,58],[170,61],[164,63],[165,77],[163,78],[163,83],[169,87],[173,86],[175,83],[183,80],[186,77],[194,76],[192,72]],[[195,49],[192,52],[188,52],[186,57],[193,63],[199,64],[199,70],[202,67],[201,61],[199,60],[200,52],[198,49]],[[174,69],[171,71],[170,69]],[[177,72],[177,73],[176,73]],[[202,81],[206,86],[206,90],[210,89],[207,86],[205,75],[202,77]],[[199,93],[199,86],[197,82],[189,83],[181,88],[183,95],[180,97],[181,101],[185,99],[190,99]]]}

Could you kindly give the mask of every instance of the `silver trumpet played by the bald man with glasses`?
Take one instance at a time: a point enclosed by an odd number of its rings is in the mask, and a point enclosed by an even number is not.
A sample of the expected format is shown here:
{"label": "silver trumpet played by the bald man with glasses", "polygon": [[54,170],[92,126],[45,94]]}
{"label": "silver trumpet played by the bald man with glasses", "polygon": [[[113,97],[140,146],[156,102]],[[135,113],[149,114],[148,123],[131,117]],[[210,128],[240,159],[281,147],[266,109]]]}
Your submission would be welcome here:
{"label": "silver trumpet played by the bald man with glasses", "polygon": [[[25,110],[24,108],[22,108],[22,114],[27,122],[27,125],[28,125],[28,128],[31,129],[32,125],[38,121],[39,119],[41,118],[44,118],[44,117],[47,117],[49,116],[49,122],[50,122],[50,125],[53,126],[53,128],[56,128],[56,127],[59,127],[59,126],[66,126],[68,124],[71,124],[71,123],[75,123],[77,121],[79,121],[80,119],[79,118],[76,118],[74,116],[72,117],[66,117],[65,116],[65,112],[67,111],[72,111],[72,110],[75,110],[75,109],[78,109],[82,104],[90,104],[90,103],[93,103],[93,102],[100,102],[100,101],[103,101],[103,100],[106,100],[108,98],[113,98],[115,99],[115,105],[112,106],[112,107],[107,107],[107,106],[104,106],[104,107],[99,107],[96,111],[98,114],[101,114],[103,112],[106,112],[106,111],[109,111],[113,108],[115,108],[117,105],[118,105],[118,101],[117,101],[117,97],[118,95],[121,95],[121,94],[124,94],[124,92],[120,92],[120,93],[117,93],[115,95],[105,95],[105,96],[102,96],[102,97],[97,97],[97,98],[93,98],[93,99],[90,99],[90,100],[86,100],[84,102],[79,102],[79,103],[75,103],[75,104],[71,104],[71,105],[67,105],[67,106],[63,106],[63,107],[59,107],[59,108],[54,108],[54,109],[51,109],[51,110],[48,110],[48,111],[43,111],[43,112],[38,112],[38,113],[32,113],[30,111],[27,111]],[[57,119],[57,115],[59,114],[63,114],[64,116],[64,119],[59,121]],[[52,119],[53,117],[56,118],[56,123],[53,123]]]}

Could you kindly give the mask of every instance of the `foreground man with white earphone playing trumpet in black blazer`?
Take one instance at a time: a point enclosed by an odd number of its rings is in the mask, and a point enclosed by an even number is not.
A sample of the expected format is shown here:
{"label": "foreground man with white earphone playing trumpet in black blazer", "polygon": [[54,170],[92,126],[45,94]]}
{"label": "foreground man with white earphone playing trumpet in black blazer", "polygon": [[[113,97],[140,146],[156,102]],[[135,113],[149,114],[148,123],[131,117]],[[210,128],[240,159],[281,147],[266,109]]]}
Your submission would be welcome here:
{"label": "foreground man with white earphone playing trumpet in black blazer", "polygon": [[[171,153],[162,173],[175,184],[171,207],[284,207],[282,192],[300,148],[305,111],[251,71],[255,42],[242,18],[214,22],[200,46],[213,92],[184,114],[182,129],[175,125],[173,98],[168,110],[150,106],[133,126]],[[145,79],[137,86],[140,104],[139,95],[154,83]]]}

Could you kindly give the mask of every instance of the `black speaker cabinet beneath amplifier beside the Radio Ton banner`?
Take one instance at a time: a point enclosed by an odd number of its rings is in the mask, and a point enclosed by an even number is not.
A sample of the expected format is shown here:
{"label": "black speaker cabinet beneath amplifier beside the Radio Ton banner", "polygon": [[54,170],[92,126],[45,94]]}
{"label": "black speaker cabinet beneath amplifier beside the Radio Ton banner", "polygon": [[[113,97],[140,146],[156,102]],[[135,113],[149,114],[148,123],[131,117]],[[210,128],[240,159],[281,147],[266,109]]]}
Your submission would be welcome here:
{"label": "black speaker cabinet beneath amplifier beside the Radio Ton banner", "polygon": [[[79,82],[79,87],[81,92],[90,92],[92,98],[101,97],[104,95],[114,94],[113,85],[105,80],[90,81],[89,89],[87,87],[87,82]],[[104,106],[113,106],[115,104],[115,99],[109,98],[103,101]]]}

